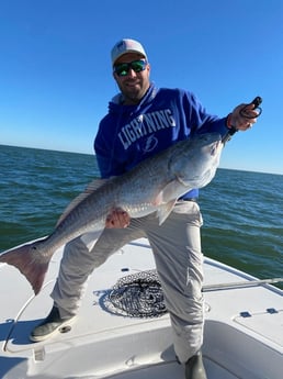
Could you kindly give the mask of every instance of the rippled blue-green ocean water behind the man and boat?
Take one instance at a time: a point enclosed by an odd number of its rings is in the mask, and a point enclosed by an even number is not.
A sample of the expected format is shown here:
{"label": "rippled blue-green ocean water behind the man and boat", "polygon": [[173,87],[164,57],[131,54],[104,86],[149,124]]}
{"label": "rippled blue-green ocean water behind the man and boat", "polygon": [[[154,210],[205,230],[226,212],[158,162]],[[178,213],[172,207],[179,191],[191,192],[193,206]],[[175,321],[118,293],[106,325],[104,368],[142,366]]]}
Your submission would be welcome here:
{"label": "rippled blue-green ocean water behind the man and boat", "polygon": [[[0,145],[0,252],[49,234],[97,176],[94,155]],[[283,176],[218,169],[200,205],[206,256],[261,279],[283,276]]]}

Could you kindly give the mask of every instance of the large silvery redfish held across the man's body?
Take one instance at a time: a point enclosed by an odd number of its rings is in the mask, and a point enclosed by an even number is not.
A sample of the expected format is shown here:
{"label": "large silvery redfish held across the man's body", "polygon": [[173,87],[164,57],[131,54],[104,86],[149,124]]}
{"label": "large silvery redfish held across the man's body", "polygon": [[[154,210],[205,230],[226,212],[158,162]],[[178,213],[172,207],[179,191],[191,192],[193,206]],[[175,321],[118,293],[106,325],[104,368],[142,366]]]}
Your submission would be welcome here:
{"label": "large silvery redfish held across the man's body", "polygon": [[115,208],[131,218],[156,212],[161,224],[182,194],[214,178],[222,148],[220,135],[201,134],[173,144],[122,176],[94,180],[70,203],[49,236],[2,253],[0,263],[16,267],[37,294],[56,249],[87,232],[102,231]]}

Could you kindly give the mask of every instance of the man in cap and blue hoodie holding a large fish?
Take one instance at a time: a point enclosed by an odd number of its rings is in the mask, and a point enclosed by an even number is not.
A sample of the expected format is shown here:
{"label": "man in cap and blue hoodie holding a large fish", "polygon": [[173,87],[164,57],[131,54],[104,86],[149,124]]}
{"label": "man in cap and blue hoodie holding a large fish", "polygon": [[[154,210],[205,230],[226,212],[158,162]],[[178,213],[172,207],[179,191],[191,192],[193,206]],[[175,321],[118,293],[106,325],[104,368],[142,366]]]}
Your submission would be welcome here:
{"label": "man in cap and blue hoodie holding a large fish", "polygon": [[[122,175],[195,133],[218,132],[225,136],[231,126],[245,131],[256,122],[258,113],[252,104],[238,105],[227,118],[219,119],[207,114],[191,92],[156,88],[149,80],[147,54],[137,41],[120,41],[111,56],[113,77],[121,92],[110,102],[94,142],[102,178]],[[67,244],[52,293],[54,306],[32,332],[31,339],[43,341],[70,323],[93,269],[126,243],[147,237],[171,319],[176,355],[185,364],[186,379],[205,379],[201,354],[204,324],[202,216],[197,196],[199,190],[194,189],[179,199],[160,226],[152,214],[129,220],[126,212],[115,209],[94,246],[90,234]]]}

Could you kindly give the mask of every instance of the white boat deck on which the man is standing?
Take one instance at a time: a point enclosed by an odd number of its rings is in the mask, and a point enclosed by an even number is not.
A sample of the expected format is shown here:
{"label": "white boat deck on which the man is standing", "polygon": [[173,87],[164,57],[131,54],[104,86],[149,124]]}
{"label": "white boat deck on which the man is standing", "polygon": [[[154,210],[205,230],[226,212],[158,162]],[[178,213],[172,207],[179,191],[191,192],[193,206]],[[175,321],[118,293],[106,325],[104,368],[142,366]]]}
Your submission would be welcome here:
{"label": "white boat deck on which the man is standing", "polygon": [[[0,265],[0,378],[183,379],[169,315],[145,238],[127,244],[89,278],[76,322],[39,343],[33,327],[52,308],[63,248],[34,296],[13,266]],[[283,291],[204,257],[203,358],[208,379],[282,379]]]}

